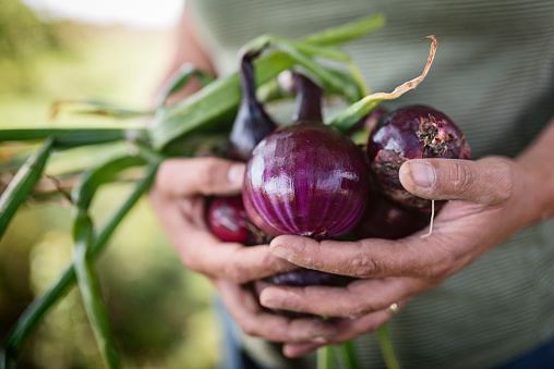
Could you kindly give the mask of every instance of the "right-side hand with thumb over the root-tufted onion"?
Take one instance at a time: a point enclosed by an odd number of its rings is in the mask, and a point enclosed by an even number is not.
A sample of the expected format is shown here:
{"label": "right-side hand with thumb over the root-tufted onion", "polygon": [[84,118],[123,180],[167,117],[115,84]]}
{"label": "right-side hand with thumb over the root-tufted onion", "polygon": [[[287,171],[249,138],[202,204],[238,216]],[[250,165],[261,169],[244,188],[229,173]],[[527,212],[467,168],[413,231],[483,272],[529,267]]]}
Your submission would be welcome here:
{"label": "right-side hand with thumb over the root-tufted onion", "polygon": [[[501,157],[408,161],[400,169],[400,181],[410,193],[454,200],[435,218],[432,235],[422,238],[424,229],[398,241],[317,242],[278,236],[270,243],[274,255],[301,267],[361,280],[344,288],[272,286],[262,292],[261,304],[345,318],[336,322],[334,344],[375,331],[392,318],[392,304],[402,308],[530,222],[527,177],[525,168]],[[322,344],[289,343],[284,353],[294,357],[318,346]]]}

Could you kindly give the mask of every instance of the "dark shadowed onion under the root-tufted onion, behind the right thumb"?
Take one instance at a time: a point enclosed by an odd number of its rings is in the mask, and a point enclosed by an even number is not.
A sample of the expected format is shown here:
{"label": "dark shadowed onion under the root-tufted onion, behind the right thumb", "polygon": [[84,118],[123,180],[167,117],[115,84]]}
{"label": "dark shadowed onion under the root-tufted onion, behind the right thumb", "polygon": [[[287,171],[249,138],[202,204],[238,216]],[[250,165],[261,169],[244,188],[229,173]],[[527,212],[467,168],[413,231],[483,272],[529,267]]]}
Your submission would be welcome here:
{"label": "dark shadowed onion under the root-tufted onion, behind the right thumb", "polygon": [[358,238],[399,239],[422,230],[431,214],[420,209],[407,209],[380,193],[370,195],[372,200],[353,230]]}

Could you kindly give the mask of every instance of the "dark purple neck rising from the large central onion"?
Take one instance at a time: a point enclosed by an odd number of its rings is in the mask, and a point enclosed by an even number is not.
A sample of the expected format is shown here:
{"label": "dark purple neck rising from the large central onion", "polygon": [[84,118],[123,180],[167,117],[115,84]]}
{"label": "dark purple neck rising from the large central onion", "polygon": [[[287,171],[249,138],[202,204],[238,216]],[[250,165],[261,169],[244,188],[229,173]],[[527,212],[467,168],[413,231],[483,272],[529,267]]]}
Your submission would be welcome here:
{"label": "dark purple neck rising from the large central onion", "polygon": [[305,76],[294,73],[297,88],[297,108],[292,118],[293,124],[322,123],[323,90]]}

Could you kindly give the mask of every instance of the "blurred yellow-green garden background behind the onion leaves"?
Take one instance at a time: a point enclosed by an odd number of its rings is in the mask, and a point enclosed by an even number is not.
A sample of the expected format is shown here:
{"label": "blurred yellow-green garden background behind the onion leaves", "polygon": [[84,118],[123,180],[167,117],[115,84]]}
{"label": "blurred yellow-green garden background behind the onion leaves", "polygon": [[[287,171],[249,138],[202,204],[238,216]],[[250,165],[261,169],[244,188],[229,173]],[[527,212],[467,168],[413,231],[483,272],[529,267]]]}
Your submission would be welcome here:
{"label": "blurred yellow-green garden background behind the onion leaves", "polygon": [[[170,29],[46,22],[25,4],[2,0],[0,125],[82,123],[68,114],[49,121],[56,99],[96,97],[147,108],[172,56],[171,42]],[[10,155],[22,149],[0,146],[4,181],[10,177]],[[52,158],[46,172],[55,175],[65,164],[86,167],[97,159],[97,153],[86,153],[75,151],[69,156],[71,163],[68,156]],[[94,218],[101,219],[129,189],[125,184],[105,186],[93,204]],[[0,340],[65,268],[70,229],[70,209],[63,201],[28,204],[16,213],[0,241]],[[96,266],[125,368],[217,365],[213,290],[182,267],[146,198],[120,225]],[[46,316],[19,362],[20,368],[103,367],[76,288]]]}

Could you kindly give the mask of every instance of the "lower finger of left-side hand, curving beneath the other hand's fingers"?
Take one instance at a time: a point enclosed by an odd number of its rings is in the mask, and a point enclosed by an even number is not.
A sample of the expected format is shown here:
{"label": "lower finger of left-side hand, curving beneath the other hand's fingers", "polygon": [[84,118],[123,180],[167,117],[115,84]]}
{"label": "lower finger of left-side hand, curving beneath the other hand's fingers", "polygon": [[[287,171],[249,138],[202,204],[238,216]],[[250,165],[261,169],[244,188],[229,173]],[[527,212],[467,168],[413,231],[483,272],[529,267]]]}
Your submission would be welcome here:
{"label": "lower finger of left-side hand, curving beneath the other hand's fingers", "polygon": [[214,281],[225,306],[244,333],[275,342],[330,342],[335,327],[323,319],[289,319],[264,310],[252,292],[229,281]]}

